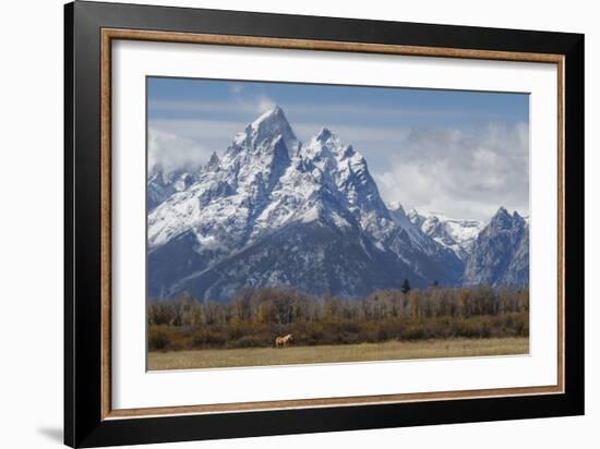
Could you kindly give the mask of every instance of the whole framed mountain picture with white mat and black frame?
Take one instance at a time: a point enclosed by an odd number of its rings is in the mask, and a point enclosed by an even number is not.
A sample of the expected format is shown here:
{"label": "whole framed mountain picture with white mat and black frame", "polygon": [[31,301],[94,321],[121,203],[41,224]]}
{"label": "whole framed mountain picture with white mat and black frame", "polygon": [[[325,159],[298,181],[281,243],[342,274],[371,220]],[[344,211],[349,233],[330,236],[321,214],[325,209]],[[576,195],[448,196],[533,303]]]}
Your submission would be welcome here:
{"label": "whole framed mountain picture with white mat and black frame", "polygon": [[584,413],[584,36],[65,5],[72,447]]}

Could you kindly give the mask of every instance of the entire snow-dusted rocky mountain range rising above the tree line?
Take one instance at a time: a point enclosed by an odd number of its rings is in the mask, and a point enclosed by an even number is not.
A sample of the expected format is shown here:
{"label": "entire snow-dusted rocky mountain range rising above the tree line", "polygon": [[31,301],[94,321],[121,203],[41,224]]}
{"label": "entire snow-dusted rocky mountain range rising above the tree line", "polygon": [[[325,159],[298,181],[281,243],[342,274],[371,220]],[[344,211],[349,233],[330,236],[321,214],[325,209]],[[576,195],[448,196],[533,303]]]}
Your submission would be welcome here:
{"label": "entire snow-dusted rocky mountain range rising above the tree line", "polygon": [[[379,289],[528,284],[528,223],[385,205],[365,159],[326,128],[300,142],[279,107],[200,170],[147,180],[148,294],[227,300],[243,287],[357,296]],[[509,247],[507,247],[509,245]]]}

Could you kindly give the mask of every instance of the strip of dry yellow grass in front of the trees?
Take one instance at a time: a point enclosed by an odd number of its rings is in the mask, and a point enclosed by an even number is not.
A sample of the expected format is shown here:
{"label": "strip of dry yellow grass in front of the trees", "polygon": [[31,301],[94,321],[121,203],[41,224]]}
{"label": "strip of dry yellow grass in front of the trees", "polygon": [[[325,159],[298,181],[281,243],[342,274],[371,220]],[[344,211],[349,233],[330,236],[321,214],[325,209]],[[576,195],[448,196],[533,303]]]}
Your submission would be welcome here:
{"label": "strip of dry yellow grass in front of the trees", "polygon": [[344,345],[315,345],[194,351],[152,351],[148,369],[190,369],[300,363],[365,362],[478,355],[527,354],[529,339],[488,338],[423,341],[387,341]]}

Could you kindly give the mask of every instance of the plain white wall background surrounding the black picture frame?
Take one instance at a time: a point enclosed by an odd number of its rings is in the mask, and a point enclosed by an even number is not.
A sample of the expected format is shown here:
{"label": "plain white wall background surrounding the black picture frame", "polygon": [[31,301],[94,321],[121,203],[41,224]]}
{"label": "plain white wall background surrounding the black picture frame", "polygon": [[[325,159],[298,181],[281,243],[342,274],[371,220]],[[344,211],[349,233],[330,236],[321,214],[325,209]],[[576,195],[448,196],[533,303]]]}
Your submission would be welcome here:
{"label": "plain white wall background surrounding the black picture frame", "polygon": [[[146,3],[152,1],[145,1]],[[595,2],[430,0],[159,1],[231,10],[550,29],[586,34],[586,278],[600,252],[600,28]],[[0,446],[58,447],[62,440],[62,1],[4,2],[0,14]],[[584,417],[188,442],[195,448],[563,448],[598,445],[600,307],[586,286],[587,414]],[[571,299],[578,301],[579,299]],[[583,300],[583,299],[581,299]]]}

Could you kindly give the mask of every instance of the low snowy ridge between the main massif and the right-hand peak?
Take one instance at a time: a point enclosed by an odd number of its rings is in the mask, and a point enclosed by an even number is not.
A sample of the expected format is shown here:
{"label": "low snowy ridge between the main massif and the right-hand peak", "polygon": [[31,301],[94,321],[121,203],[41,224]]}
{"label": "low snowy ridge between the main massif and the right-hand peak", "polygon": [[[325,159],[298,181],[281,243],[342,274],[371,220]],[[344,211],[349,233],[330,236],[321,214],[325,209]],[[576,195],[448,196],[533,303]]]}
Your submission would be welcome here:
{"label": "low snowy ridge between the main massif and the right-hand peak", "polygon": [[423,216],[416,209],[408,213],[408,218],[437,243],[454,251],[464,262],[469,258],[475,241],[485,226],[480,220],[449,218],[437,213]]}

